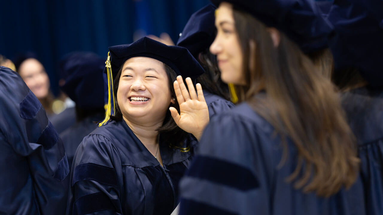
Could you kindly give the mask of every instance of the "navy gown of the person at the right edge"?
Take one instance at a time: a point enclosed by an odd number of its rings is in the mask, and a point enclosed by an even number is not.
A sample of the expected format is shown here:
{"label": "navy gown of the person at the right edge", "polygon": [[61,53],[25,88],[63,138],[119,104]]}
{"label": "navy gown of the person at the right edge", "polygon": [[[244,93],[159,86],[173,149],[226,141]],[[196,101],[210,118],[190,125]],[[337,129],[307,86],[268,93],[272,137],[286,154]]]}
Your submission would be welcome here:
{"label": "navy gown of the person at the right edge", "polygon": [[358,140],[366,213],[383,214],[383,90],[358,88],[342,94],[342,105]]}

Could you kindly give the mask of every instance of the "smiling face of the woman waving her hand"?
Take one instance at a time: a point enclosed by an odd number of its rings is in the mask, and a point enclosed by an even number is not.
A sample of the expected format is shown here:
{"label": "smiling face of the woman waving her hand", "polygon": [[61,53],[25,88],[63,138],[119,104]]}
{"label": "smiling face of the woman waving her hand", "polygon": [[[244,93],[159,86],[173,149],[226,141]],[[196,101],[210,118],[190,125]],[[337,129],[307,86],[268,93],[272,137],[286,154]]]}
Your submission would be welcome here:
{"label": "smiling face of the woman waving her hand", "polygon": [[163,121],[172,101],[164,63],[148,57],[128,59],[121,71],[117,101],[128,121]]}

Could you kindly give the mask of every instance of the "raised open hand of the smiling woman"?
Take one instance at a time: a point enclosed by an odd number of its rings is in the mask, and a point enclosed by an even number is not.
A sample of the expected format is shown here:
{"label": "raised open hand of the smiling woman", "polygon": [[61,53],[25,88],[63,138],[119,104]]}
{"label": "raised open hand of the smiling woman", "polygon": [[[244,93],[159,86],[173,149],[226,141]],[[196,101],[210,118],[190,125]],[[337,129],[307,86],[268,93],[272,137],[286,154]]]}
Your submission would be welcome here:
{"label": "raised open hand of the smiling woman", "polygon": [[200,140],[203,129],[209,123],[209,110],[205,97],[203,97],[201,84],[196,84],[197,92],[194,89],[191,78],[186,78],[186,84],[189,91],[180,75],[173,83],[175,95],[180,105],[180,114],[173,107],[169,109],[178,127],[193,134],[194,137]]}

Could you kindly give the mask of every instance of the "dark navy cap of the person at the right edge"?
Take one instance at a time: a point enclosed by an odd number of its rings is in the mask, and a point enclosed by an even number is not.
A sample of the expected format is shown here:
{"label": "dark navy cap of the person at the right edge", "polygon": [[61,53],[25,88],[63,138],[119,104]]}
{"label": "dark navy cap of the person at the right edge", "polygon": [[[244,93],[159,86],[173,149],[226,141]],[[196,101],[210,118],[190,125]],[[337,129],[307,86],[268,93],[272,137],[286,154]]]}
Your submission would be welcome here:
{"label": "dark navy cap of the person at the right edge", "polygon": [[383,1],[337,0],[328,20],[334,26],[329,47],[334,69],[358,68],[371,86],[383,86]]}

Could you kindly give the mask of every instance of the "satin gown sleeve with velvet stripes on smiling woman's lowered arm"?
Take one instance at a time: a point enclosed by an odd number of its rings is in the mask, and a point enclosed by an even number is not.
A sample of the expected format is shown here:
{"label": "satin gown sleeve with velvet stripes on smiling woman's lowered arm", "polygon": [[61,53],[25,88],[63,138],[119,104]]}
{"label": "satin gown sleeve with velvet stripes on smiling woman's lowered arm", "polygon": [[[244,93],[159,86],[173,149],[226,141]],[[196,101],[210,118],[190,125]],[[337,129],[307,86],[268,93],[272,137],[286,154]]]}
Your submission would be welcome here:
{"label": "satin gown sleeve with velvet stripes on smiling woman's lowered arm", "polygon": [[117,150],[103,135],[88,135],[73,160],[69,214],[123,214],[121,184]]}

